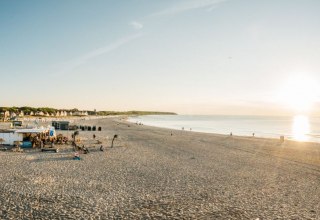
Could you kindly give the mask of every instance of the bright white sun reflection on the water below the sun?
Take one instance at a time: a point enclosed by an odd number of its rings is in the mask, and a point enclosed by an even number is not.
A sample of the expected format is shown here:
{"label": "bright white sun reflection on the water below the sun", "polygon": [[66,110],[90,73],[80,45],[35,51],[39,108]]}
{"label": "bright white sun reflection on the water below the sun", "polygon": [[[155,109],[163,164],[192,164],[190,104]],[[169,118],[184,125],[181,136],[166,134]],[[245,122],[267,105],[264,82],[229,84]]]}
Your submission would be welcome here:
{"label": "bright white sun reflection on the water below the sun", "polygon": [[296,115],[293,118],[292,134],[293,139],[297,141],[309,140],[308,134],[310,133],[309,118],[304,115]]}

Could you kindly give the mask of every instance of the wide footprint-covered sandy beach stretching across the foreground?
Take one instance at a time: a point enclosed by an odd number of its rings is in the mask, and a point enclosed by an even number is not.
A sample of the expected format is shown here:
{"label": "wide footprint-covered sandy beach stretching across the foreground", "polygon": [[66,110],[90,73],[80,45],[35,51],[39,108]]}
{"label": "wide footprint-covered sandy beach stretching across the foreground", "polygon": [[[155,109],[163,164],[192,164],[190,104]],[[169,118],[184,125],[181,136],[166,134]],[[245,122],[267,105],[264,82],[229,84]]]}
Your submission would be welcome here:
{"label": "wide footprint-covered sandy beach stretching across the foreground", "polygon": [[320,219],[320,144],[76,124],[102,127],[80,131],[80,161],[71,146],[0,152],[0,219]]}

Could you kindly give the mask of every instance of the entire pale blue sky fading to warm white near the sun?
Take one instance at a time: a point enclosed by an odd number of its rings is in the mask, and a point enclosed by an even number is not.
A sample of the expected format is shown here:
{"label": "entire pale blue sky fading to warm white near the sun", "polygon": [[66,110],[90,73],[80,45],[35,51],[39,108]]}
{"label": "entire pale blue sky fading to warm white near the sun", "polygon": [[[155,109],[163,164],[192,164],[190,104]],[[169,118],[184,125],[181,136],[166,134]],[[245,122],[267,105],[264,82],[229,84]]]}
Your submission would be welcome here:
{"label": "entire pale blue sky fading to warm white near the sun", "polygon": [[0,0],[0,106],[317,113],[319,12],[319,0]]}

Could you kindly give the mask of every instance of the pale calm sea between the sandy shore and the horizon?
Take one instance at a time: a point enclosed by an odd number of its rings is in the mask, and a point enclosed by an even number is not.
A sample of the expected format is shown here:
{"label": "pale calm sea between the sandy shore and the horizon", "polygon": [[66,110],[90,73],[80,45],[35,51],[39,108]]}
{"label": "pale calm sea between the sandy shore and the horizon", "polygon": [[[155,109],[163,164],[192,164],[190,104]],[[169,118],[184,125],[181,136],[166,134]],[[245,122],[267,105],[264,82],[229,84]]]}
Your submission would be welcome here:
{"label": "pale calm sea between the sandy shore and the horizon", "polygon": [[279,138],[320,142],[320,118],[296,115],[277,116],[205,116],[148,115],[129,118],[144,125],[216,134]]}

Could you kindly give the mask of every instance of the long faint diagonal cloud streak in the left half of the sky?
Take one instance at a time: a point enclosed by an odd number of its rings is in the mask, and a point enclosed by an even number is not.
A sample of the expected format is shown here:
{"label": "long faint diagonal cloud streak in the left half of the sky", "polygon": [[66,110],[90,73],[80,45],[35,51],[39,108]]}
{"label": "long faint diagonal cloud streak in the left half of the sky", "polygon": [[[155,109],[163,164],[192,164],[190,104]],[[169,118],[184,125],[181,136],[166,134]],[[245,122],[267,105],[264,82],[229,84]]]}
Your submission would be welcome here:
{"label": "long faint diagonal cloud streak in the left half of the sky", "polygon": [[87,61],[94,59],[98,56],[101,56],[103,54],[109,53],[111,51],[116,50],[117,48],[123,46],[124,44],[127,44],[129,42],[131,42],[132,40],[141,37],[142,34],[133,34],[133,35],[129,35],[127,37],[124,38],[120,38],[117,41],[104,46],[104,47],[100,47],[96,50],[92,50],[76,59],[70,60],[69,62],[67,62],[64,67],[56,74],[56,75],[63,75],[66,74],[70,71],[72,71],[73,69],[77,68],[78,66],[86,63]]}

